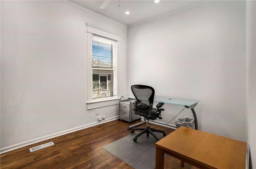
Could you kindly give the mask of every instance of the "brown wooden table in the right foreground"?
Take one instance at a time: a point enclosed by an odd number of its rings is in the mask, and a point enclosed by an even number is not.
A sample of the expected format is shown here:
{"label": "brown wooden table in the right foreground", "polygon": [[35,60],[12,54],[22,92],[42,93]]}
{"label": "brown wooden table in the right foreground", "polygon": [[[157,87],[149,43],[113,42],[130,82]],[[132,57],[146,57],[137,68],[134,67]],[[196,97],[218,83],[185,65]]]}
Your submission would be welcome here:
{"label": "brown wooden table in the right foreground", "polygon": [[180,127],[156,142],[156,169],[164,169],[164,153],[202,169],[245,169],[246,143]]}

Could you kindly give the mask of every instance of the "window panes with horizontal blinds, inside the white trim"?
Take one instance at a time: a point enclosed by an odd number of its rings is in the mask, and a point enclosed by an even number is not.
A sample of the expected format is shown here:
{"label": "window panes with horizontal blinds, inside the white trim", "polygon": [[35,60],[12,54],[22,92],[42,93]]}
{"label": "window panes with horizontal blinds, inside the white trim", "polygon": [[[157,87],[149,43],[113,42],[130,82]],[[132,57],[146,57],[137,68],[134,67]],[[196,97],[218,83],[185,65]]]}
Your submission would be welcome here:
{"label": "window panes with horizontal blinds, inside the white trim", "polygon": [[92,34],[92,100],[116,96],[117,41]]}

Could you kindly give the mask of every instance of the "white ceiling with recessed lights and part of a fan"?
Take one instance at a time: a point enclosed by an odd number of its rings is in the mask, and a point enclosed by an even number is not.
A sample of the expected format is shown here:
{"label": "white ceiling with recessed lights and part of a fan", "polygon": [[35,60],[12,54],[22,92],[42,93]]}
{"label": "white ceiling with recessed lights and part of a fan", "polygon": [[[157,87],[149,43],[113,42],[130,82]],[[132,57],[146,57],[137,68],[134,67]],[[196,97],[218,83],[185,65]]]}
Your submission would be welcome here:
{"label": "white ceiling with recessed lights and part of a fan", "polygon": [[[125,25],[135,24],[198,2],[198,0],[160,0],[160,2],[156,4],[154,0],[120,0],[120,6],[118,6],[118,0],[111,0],[106,8],[100,9],[104,0],[71,1]],[[126,15],[126,11],[129,11],[130,14]]]}

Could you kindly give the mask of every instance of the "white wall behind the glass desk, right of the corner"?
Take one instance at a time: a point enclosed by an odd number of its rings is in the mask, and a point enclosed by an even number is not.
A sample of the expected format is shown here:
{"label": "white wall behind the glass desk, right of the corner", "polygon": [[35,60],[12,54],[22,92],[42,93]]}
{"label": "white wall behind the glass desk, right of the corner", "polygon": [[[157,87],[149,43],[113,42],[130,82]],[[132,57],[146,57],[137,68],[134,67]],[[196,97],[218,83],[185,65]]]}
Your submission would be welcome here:
{"label": "white wall behind the glass desk, right of the corner", "polygon": [[[197,4],[128,27],[128,93],[145,84],[156,95],[202,100],[199,130],[245,141],[245,2]],[[183,107],[164,108],[168,120]]]}

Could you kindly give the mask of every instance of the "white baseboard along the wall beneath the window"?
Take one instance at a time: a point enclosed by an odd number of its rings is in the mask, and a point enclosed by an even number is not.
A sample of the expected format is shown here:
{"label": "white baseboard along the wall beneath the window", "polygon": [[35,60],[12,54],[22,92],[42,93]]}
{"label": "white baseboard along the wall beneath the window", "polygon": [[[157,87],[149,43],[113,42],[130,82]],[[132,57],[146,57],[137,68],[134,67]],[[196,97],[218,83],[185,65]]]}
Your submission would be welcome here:
{"label": "white baseboard along the wall beneath the window", "polygon": [[64,134],[76,132],[78,130],[82,130],[82,129],[89,128],[89,127],[92,127],[92,126],[96,126],[96,125],[99,125],[99,124],[110,122],[110,121],[116,120],[118,118],[119,118],[119,116],[114,116],[112,118],[107,118],[106,120],[102,120],[100,122],[93,122],[93,123],[86,124],[86,125],[83,125],[83,126],[78,126],[76,128],[71,128],[71,129],[68,129],[68,130],[64,130],[62,132],[57,132],[57,133],[50,134],[50,135],[47,135],[47,136],[43,136],[43,137],[40,137],[40,138],[35,138],[35,139],[32,139],[32,140],[24,141],[22,143],[18,143],[18,144],[10,145],[10,146],[7,146],[7,147],[3,147],[3,148],[0,149],[0,154],[6,153],[8,151],[12,151],[14,149],[18,149],[18,148],[21,148],[21,147],[25,147],[27,145],[38,143],[40,141],[48,140],[50,138],[55,138],[55,137],[58,137],[58,136],[62,136]]}

